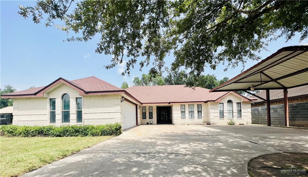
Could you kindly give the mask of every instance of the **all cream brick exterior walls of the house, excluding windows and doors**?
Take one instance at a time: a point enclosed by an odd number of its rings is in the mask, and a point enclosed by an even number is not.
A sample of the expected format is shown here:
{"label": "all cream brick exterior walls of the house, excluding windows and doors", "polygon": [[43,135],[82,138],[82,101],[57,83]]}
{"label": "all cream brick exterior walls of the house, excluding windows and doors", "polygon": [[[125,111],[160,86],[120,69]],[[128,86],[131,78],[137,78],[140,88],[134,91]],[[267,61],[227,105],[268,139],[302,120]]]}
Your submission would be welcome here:
{"label": "all cream brick exterior walls of the house, excluding windows and doors", "polygon": [[[70,95],[70,122],[62,122],[62,95]],[[122,123],[121,94],[80,96],[79,92],[72,87],[59,83],[59,85],[47,90],[44,98],[15,98],[13,102],[13,125],[100,125],[111,123]],[[50,98],[55,98],[56,121],[50,123]],[[83,98],[83,122],[76,120],[76,98]],[[130,99],[127,98],[126,99]],[[208,103],[176,103],[167,105],[138,105],[138,124],[147,124],[153,121],[156,124],[156,107],[171,106],[172,124],[211,124],[227,125],[227,101],[233,101],[233,117],[237,124],[251,123],[250,102],[234,94],[222,98],[224,103],[224,118],[219,118],[218,102]],[[130,99],[131,100],[131,99]],[[131,100],[133,101],[133,100]],[[134,102],[134,101],[133,101]],[[237,102],[241,102],[242,117],[237,117]],[[180,105],[185,105],[185,119],[181,119]],[[194,105],[194,118],[189,119],[188,105]],[[201,104],[202,118],[198,118],[197,104]],[[142,106],[146,106],[146,119],[142,119]],[[149,106],[153,106],[153,119],[149,119]]]}

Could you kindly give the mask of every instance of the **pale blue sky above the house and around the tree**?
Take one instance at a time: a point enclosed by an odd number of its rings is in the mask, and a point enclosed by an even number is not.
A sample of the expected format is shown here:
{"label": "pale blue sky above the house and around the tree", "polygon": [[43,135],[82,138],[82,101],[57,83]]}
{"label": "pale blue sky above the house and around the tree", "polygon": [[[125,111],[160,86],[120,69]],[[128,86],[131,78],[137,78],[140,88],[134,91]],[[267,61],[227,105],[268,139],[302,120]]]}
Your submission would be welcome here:
{"label": "pale blue sky above the house and around the tree", "polygon": [[[59,77],[74,80],[92,75],[120,87],[124,80],[132,84],[134,76],[148,73],[149,67],[140,72],[139,65],[126,77],[120,74],[123,65],[107,70],[103,66],[110,63],[111,56],[94,52],[98,38],[87,43],[63,42],[67,38],[65,32],[56,27],[46,28],[44,24],[34,24],[31,17],[24,19],[18,15],[19,5],[29,6],[34,3],[35,1],[0,1],[1,88],[10,84],[18,90],[25,90],[31,86],[46,86]],[[263,51],[259,55],[266,58],[279,48],[307,43],[307,40],[300,43],[298,39],[297,35],[285,43],[285,39],[281,38],[269,44],[269,51]],[[167,56],[166,66],[170,66],[172,61],[173,56]],[[245,69],[256,63],[257,61],[247,61]],[[241,72],[242,66],[229,68],[225,72],[224,68],[222,64],[215,71],[207,67],[204,74],[215,74],[218,79],[231,79]]]}

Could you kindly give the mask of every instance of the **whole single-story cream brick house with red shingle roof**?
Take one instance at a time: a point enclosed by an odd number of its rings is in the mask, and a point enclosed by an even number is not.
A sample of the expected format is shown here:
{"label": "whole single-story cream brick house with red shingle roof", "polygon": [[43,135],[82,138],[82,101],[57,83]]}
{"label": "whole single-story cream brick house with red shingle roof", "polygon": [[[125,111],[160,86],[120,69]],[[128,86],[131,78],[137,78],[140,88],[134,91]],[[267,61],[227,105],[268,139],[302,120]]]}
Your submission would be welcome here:
{"label": "whole single-story cream brick house with red shingle roof", "polygon": [[13,125],[251,124],[250,103],[235,92],[184,85],[121,89],[95,76],[1,95],[14,99]]}

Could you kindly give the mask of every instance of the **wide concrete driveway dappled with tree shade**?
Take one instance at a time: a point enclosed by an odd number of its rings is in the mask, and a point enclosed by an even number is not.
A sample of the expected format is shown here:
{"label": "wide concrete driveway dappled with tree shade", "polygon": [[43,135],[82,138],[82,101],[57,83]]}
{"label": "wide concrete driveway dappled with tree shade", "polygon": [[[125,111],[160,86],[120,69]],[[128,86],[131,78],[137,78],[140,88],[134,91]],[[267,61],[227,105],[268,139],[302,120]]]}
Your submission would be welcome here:
{"label": "wide concrete driveway dappled with tree shade", "polygon": [[141,125],[26,176],[248,176],[249,159],[308,152],[308,130]]}

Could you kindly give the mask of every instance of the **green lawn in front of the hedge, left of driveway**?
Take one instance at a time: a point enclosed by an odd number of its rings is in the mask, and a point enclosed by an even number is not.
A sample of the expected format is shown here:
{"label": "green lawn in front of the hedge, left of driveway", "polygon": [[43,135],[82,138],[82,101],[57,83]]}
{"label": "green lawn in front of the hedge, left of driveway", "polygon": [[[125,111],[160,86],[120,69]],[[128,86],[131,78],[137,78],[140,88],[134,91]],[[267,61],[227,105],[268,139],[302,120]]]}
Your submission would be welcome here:
{"label": "green lawn in front of the hedge, left of driveway", "polygon": [[109,138],[111,137],[1,137],[0,175],[21,175]]}

